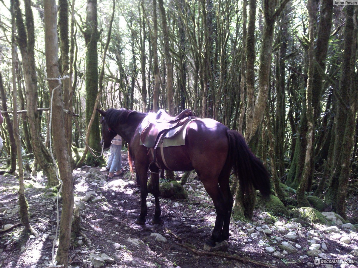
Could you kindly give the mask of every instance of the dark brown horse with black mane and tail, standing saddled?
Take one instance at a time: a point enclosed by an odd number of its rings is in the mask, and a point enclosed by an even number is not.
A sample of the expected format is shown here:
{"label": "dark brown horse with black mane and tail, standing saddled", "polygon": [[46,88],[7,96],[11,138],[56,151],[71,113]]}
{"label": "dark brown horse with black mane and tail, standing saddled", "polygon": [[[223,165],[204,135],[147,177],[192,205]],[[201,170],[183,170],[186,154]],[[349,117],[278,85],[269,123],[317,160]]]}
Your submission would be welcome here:
{"label": "dark brown horse with black mane and tail, standing saddled", "polygon": [[[136,223],[144,224],[147,215],[146,197],[147,172],[153,176],[153,195],[155,198],[155,214],[153,223],[160,222],[159,205],[159,168],[153,161],[148,148],[140,145],[139,126],[148,115],[131,110],[108,109],[98,110],[101,116],[102,141],[107,149],[111,140],[119,134],[129,143],[130,158],[134,161],[137,180],[140,181],[141,211]],[[265,167],[253,155],[243,137],[236,131],[213,119],[197,119],[191,121],[186,128],[185,145],[166,147],[164,158],[166,165],[172,170],[195,170],[205,190],[213,199],[217,217],[212,236],[207,240],[209,247],[229,238],[229,222],[233,206],[233,197],[229,187],[229,176],[233,168],[243,189],[255,187],[267,196],[270,194],[270,179]],[[164,167],[161,153],[156,150],[156,161]],[[130,162],[131,162],[130,159]]]}

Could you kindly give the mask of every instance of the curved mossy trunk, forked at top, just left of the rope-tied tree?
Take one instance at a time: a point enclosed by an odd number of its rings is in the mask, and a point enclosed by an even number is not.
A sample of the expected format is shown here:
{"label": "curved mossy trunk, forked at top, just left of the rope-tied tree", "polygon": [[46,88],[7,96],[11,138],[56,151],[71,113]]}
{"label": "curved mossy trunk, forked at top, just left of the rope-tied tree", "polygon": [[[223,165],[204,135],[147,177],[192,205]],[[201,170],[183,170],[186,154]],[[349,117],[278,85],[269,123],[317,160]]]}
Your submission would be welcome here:
{"label": "curved mossy trunk, forked at top, just left of the rope-tied tree", "polygon": [[14,9],[16,17],[16,26],[18,30],[18,44],[22,56],[22,67],[26,85],[26,108],[27,118],[29,120],[29,130],[31,134],[32,148],[35,159],[43,169],[48,178],[48,185],[54,186],[58,184],[55,167],[50,162],[50,154],[45,148],[41,139],[41,126],[39,120],[38,108],[38,92],[37,92],[37,74],[34,56],[35,32],[34,18],[32,14],[31,1],[25,0],[25,20],[22,17],[19,0],[14,0]]}

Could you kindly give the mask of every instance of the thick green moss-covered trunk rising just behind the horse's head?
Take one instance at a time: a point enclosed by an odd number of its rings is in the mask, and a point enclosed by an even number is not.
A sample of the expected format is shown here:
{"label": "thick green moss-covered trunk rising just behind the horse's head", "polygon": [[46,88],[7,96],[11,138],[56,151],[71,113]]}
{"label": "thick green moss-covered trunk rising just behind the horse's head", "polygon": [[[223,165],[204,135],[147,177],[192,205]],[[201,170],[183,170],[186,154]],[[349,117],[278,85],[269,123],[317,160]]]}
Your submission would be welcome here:
{"label": "thick green moss-covered trunk rising just behind the horse's head", "polygon": [[[97,0],[87,0],[86,31],[84,40],[86,42],[86,125],[89,125],[93,109],[95,107],[96,96],[98,93],[98,53],[97,43],[100,33],[97,29]],[[89,131],[88,145],[97,152],[100,147],[100,126],[98,113],[95,114],[91,129]],[[87,153],[86,163],[88,165],[100,165],[103,158],[96,158],[91,153]]]}

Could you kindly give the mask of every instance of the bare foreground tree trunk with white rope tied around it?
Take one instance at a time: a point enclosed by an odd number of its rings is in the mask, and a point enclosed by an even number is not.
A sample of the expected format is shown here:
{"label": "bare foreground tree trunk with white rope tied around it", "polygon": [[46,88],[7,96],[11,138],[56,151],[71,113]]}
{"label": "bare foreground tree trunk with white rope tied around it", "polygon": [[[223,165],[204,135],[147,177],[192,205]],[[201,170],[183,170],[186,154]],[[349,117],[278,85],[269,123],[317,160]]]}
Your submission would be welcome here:
{"label": "bare foreground tree trunk with white rope tied around it", "polygon": [[[55,0],[44,1],[44,28],[45,28],[45,56],[47,77],[59,77],[58,68],[58,36],[57,36],[57,5]],[[62,88],[57,80],[49,80],[49,91],[52,96],[50,103],[53,145],[57,156],[58,169],[62,180],[62,213],[57,250],[57,264],[68,265],[68,249],[71,237],[71,221],[73,213],[73,180],[71,159],[65,139],[64,104],[62,101]],[[50,120],[51,120],[50,119]]]}

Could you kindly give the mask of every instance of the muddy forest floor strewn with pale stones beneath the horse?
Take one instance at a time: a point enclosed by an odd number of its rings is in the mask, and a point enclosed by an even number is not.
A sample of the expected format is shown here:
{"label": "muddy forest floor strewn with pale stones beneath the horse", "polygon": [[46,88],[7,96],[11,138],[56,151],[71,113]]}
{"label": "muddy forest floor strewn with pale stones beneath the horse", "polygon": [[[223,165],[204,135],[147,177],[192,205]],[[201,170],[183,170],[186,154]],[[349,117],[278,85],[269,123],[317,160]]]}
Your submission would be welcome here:
{"label": "muddy forest floor strewn with pale stones beneath the horse", "polygon": [[[73,240],[69,252],[71,267],[216,268],[261,267],[261,264],[314,267],[315,258],[316,262],[318,258],[320,261],[355,261],[351,265],[319,264],[317,267],[357,265],[358,235],[354,227],[338,226],[334,237],[334,233],[325,231],[326,226],[302,226],[286,217],[277,217],[276,223],[267,224],[260,211],[255,211],[251,222],[232,217],[226,252],[204,252],[202,249],[212,233],[216,213],[211,198],[195,175],[191,175],[185,185],[188,200],[160,199],[161,224],[151,224],[154,204],[149,196],[147,204],[152,206],[148,207],[146,224],[137,225],[139,189],[129,180],[125,155],[122,160],[126,174],[121,178],[107,180],[104,168],[83,167],[73,172],[75,202],[82,208],[82,234]],[[112,184],[105,184],[111,181]],[[19,224],[18,180],[13,175],[1,176],[1,268],[48,267],[52,260],[52,240],[57,225],[54,193],[45,188],[46,182],[40,173],[36,177],[27,175],[25,183],[30,223],[39,238],[24,235]],[[351,203],[349,213],[356,213],[353,209],[356,205]],[[9,227],[12,229],[4,230]],[[337,240],[337,235],[349,237],[350,243]],[[283,242],[287,242],[286,250],[281,246]]]}

